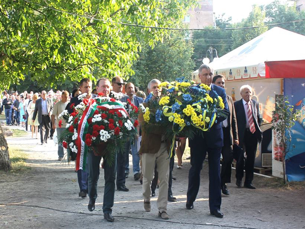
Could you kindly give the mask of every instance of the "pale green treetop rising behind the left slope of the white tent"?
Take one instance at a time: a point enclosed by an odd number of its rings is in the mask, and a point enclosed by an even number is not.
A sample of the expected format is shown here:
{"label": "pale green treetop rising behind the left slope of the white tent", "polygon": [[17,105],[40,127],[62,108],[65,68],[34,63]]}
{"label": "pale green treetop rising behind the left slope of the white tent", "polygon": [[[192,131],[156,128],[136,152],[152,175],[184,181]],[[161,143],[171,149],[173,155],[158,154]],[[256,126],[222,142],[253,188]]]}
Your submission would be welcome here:
{"label": "pale green treetop rising behind the left slope of the white tent", "polygon": [[[244,19],[241,23],[237,23],[235,27],[251,27],[264,25],[265,12],[262,7],[253,5],[252,11],[249,16]],[[254,29],[234,30],[232,33],[233,45],[232,49],[236,49],[244,43],[252,40],[260,34],[266,32],[267,27],[259,27]]]}

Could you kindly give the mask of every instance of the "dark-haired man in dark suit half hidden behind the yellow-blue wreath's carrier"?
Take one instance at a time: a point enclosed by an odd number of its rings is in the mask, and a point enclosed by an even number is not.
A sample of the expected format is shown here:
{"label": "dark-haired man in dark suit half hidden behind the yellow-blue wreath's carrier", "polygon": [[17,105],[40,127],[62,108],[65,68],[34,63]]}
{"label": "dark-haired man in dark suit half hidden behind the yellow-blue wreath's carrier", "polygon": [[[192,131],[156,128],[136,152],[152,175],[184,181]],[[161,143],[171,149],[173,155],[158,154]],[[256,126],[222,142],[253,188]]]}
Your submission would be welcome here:
{"label": "dark-haired man in dark suit half hidden behind the yellow-blue wreath's carrier", "polygon": [[[213,84],[225,88],[225,77],[223,75],[215,75],[213,77]],[[236,114],[231,96],[227,95],[227,102],[229,107],[229,116],[222,122],[222,131],[224,134],[224,146],[222,147],[222,164],[221,164],[221,191],[225,195],[230,192],[227,183],[231,183],[232,174],[232,160],[233,160],[233,144],[239,144]]]}

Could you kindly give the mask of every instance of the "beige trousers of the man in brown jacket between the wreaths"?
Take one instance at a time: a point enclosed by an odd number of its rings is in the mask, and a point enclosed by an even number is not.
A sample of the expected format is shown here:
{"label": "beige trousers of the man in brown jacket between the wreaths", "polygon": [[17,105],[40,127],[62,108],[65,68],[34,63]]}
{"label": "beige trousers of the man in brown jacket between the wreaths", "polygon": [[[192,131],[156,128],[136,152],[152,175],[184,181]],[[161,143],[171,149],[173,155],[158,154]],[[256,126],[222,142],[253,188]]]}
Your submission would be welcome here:
{"label": "beige trousers of the man in brown jacket between the wreaths", "polygon": [[167,146],[161,144],[159,151],[156,154],[142,154],[142,172],[143,172],[143,197],[146,202],[150,201],[151,197],[151,181],[154,178],[155,164],[159,175],[159,195],[157,207],[160,212],[167,211],[167,196],[169,188],[170,160]]}

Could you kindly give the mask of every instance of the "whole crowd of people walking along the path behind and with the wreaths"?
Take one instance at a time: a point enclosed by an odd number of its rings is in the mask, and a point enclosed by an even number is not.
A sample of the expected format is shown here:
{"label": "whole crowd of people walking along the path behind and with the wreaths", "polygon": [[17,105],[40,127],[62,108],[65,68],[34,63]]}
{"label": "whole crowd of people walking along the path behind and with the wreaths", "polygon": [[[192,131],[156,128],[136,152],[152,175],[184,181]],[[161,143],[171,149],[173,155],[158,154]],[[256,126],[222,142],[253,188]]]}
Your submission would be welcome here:
{"label": "whole crowd of people walking along the path behind and with the wreaths", "polygon": [[[242,179],[245,179],[244,187],[255,189],[252,184],[254,159],[257,144],[262,140],[262,132],[260,130],[259,107],[256,101],[251,99],[252,89],[249,85],[244,85],[240,89],[242,99],[234,102],[232,97],[226,95],[225,77],[216,75],[213,77],[213,69],[208,65],[199,67],[199,79],[201,83],[208,85],[211,91],[215,91],[221,96],[225,110],[228,111],[227,117],[217,117],[217,122],[209,131],[197,134],[194,138],[189,139],[190,147],[190,165],[188,175],[188,189],[186,209],[194,208],[199,185],[200,172],[203,162],[208,154],[209,165],[209,208],[211,215],[222,218],[223,213],[221,207],[221,193],[229,195],[230,192],[227,183],[231,182],[231,171],[234,148],[239,151],[237,157],[236,168],[236,185],[242,186]],[[46,144],[48,138],[53,138],[54,131],[60,135],[65,129],[65,121],[59,117],[62,111],[67,110],[72,113],[71,104],[77,106],[81,100],[78,95],[86,93],[86,99],[92,99],[98,93],[109,97],[111,92],[119,95],[121,102],[126,103],[127,100],[139,107],[142,104],[147,107],[144,102],[148,93],[153,94],[153,99],[158,100],[161,96],[161,82],[153,79],[147,86],[147,91],[139,91],[131,82],[124,82],[119,76],[114,77],[111,81],[107,78],[101,78],[97,81],[93,90],[92,81],[84,78],[79,82],[79,87],[74,89],[69,96],[69,92],[57,92],[60,98],[54,98],[54,92],[42,91],[41,93],[14,93],[9,95],[5,93],[1,105],[5,111],[6,124],[16,124],[28,129],[31,126],[32,137],[36,133],[38,137],[38,129],[40,130],[41,144]],[[93,94],[93,92],[95,94]],[[1,106],[2,108],[2,106]],[[128,109],[127,109],[128,112]],[[132,120],[135,121],[135,120]],[[134,180],[139,180],[142,184],[143,207],[146,212],[151,211],[151,197],[156,195],[155,190],[159,185],[159,193],[157,199],[157,207],[159,217],[169,219],[167,211],[168,201],[177,201],[172,192],[172,171],[174,168],[174,157],[177,154],[177,169],[183,168],[182,156],[186,146],[186,138],[177,138],[176,147],[174,147],[173,156],[167,160],[171,142],[165,139],[165,129],[149,128],[149,124],[144,122],[143,113],[138,116],[141,127],[137,129],[138,136],[135,141],[126,141],[125,147],[121,149],[117,155],[115,164],[103,163],[105,189],[103,200],[104,219],[113,222],[112,207],[114,205],[115,187],[119,191],[129,191],[126,187],[126,178],[129,171],[132,170]],[[61,126],[58,123],[61,122]],[[129,170],[129,153],[132,155],[132,169]],[[220,158],[222,155],[222,167],[220,169]],[[58,160],[64,157],[64,149],[61,144],[58,146]],[[79,197],[86,198],[89,196],[88,210],[95,209],[95,201],[97,199],[97,182],[100,174],[100,163],[102,156],[89,153],[87,156],[87,170],[77,171],[79,183]],[[73,160],[73,157],[71,158]],[[117,179],[117,180],[116,180]],[[128,186],[128,185],[127,185]]]}

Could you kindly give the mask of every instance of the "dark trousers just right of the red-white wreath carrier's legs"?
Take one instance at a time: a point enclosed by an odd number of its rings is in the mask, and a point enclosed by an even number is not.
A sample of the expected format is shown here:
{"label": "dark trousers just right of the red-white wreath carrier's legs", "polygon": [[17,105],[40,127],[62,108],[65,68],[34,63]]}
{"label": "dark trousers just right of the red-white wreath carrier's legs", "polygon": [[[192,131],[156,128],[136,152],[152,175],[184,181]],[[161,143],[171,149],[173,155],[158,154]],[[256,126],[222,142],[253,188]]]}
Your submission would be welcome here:
{"label": "dark trousers just right of the red-white wreath carrier's legs", "polygon": [[125,166],[126,166],[126,154],[128,156],[129,154],[129,147],[130,143],[129,141],[125,144],[125,149],[123,151],[120,150],[120,152],[117,155],[117,188],[121,187],[122,185],[125,185]]}

